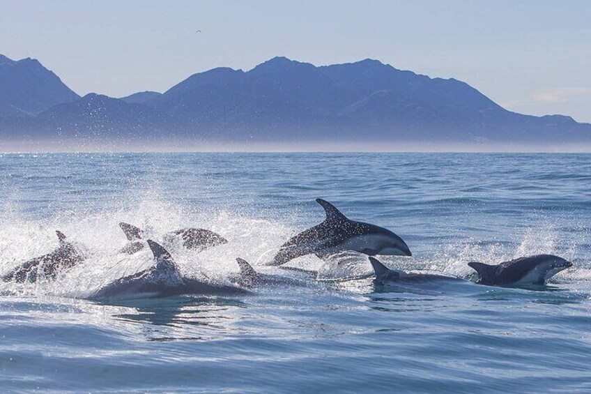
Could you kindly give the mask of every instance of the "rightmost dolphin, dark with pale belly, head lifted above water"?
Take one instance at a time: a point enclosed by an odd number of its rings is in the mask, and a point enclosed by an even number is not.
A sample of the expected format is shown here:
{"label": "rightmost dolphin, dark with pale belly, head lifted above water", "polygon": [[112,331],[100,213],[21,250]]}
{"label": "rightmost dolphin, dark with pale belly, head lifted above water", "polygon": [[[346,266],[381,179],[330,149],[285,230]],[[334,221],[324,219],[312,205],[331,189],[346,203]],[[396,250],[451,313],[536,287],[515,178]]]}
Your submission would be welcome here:
{"label": "rightmost dolphin, dark with pale belly, head lifted above water", "polygon": [[571,267],[572,263],[554,255],[535,255],[497,265],[470,262],[468,266],[478,273],[477,283],[480,285],[527,286],[544,285],[548,279]]}

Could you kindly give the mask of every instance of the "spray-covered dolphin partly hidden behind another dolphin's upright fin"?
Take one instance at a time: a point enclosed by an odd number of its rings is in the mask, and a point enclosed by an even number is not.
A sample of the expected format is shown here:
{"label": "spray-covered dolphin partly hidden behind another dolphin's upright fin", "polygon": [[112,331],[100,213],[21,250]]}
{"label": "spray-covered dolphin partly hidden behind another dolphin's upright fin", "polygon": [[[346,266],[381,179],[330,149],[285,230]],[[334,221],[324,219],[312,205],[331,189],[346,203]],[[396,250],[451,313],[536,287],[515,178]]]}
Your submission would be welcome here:
{"label": "spray-covered dolphin partly hidden behind another dolphin's upright fin", "polygon": [[[120,250],[121,253],[133,255],[135,252],[139,252],[139,250],[143,250],[146,247],[146,243],[144,242],[144,232],[139,227],[135,227],[134,225],[125,222],[119,223],[119,227],[121,227],[121,230],[123,230],[123,233],[128,238],[127,245]],[[174,243],[177,237],[181,237],[185,248],[197,250],[199,252],[228,242],[227,239],[220,236],[220,234],[206,229],[196,229],[192,227],[164,234],[164,241],[167,243]]]}

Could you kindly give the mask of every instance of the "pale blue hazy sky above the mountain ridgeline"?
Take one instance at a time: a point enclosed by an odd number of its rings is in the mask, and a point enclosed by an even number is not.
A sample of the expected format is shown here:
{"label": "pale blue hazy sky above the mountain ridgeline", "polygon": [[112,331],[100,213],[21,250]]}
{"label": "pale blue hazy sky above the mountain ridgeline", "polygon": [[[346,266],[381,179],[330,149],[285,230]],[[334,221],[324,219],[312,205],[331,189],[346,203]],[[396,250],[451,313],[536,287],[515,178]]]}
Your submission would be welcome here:
{"label": "pale blue hazy sky above the mountain ridgeline", "polygon": [[588,0],[0,0],[0,54],[114,97],[273,56],[369,57],[461,79],[516,112],[591,122],[590,21]]}

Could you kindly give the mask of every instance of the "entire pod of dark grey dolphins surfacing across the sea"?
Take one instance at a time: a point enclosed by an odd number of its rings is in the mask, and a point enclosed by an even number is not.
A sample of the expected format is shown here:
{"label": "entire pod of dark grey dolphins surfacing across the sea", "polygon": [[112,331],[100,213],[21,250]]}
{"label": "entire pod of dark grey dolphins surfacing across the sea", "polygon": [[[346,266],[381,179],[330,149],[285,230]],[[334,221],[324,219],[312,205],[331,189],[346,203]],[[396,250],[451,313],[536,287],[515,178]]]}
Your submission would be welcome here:
{"label": "entire pod of dark grey dolphins surfacing across the sea", "polygon": [[[273,261],[266,265],[279,266],[305,255],[316,255],[326,259],[339,252],[359,252],[369,255],[374,268],[376,285],[420,284],[433,281],[463,281],[465,279],[438,273],[404,273],[393,271],[373,256],[411,256],[408,245],[388,229],[365,222],[350,220],[334,205],[324,199],[316,199],[325,210],[326,218],[320,224],[306,229],[284,243]],[[181,294],[245,294],[245,289],[262,285],[290,283],[276,275],[259,273],[243,259],[236,259],[240,273],[231,275],[229,285],[201,281],[181,274],[170,253],[159,243],[145,240],[144,231],[125,222],[119,223],[128,243],[120,252],[134,254],[148,245],[153,252],[155,264],[144,271],[114,280],[91,295],[94,300],[114,300],[128,298],[153,298]],[[54,279],[61,271],[66,271],[84,261],[84,256],[66,241],[66,236],[56,232],[59,248],[53,252],[24,262],[0,278],[4,282],[36,282],[38,278]],[[184,248],[201,251],[227,240],[206,229],[185,228],[164,234],[165,242],[182,241]],[[504,287],[524,287],[544,285],[556,273],[572,266],[571,262],[554,255],[535,255],[520,257],[497,265],[470,262],[468,266],[478,274],[477,284]]]}

